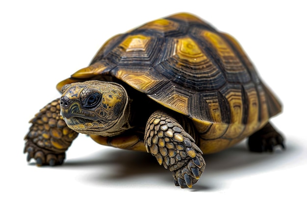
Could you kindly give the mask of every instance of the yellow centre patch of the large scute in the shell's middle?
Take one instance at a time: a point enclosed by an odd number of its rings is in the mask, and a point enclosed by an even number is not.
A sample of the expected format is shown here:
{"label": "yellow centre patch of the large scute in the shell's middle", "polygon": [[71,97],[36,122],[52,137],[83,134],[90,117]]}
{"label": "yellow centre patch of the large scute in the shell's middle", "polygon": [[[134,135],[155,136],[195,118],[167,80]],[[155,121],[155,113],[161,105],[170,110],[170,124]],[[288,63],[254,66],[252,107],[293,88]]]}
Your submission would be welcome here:
{"label": "yellow centre patch of the large scute in the shell's middle", "polygon": [[181,38],[176,45],[176,53],[179,59],[189,63],[200,63],[207,59],[197,43],[191,38]]}

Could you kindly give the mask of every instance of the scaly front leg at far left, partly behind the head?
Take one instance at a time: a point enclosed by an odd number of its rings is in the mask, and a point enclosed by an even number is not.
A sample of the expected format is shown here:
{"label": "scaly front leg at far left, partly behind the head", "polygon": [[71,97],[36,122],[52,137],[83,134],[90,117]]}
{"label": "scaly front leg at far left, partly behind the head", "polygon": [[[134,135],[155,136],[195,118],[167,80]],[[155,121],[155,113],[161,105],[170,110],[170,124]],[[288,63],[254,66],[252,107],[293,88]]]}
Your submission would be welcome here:
{"label": "scaly front leg at far left, partly behind the head", "polygon": [[68,128],[60,115],[59,99],[41,109],[30,122],[25,137],[27,161],[34,158],[38,166],[62,164],[65,151],[78,133]]}

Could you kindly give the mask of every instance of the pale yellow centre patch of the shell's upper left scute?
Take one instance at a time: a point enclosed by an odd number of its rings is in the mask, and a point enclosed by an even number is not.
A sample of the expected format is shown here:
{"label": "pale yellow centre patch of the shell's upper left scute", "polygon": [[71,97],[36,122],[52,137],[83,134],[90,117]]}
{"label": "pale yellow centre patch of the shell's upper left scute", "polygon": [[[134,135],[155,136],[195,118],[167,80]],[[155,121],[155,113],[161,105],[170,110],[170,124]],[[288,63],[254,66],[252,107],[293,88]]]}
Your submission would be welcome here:
{"label": "pale yellow centre patch of the shell's upper left scute", "polygon": [[150,39],[150,37],[144,35],[132,35],[128,36],[121,46],[126,50],[126,52],[145,51]]}

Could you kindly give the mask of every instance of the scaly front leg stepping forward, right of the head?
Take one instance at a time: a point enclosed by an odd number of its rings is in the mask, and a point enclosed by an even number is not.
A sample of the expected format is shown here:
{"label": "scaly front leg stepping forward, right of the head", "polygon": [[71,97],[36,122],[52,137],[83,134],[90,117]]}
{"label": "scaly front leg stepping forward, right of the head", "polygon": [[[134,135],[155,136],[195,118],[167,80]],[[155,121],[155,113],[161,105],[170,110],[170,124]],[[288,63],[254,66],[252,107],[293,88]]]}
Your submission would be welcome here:
{"label": "scaly front leg stepping forward, right of the head", "polygon": [[144,140],[147,152],[173,172],[176,186],[191,188],[200,179],[205,170],[202,151],[168,113],[156,111],[150,116]]}

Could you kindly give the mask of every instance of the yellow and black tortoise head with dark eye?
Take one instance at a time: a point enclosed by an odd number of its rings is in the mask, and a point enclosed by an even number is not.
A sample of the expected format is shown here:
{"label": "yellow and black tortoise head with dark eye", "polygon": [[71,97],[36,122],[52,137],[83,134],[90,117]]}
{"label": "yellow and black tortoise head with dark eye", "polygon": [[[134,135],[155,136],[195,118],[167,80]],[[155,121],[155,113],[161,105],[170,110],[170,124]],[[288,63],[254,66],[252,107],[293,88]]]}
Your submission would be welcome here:
{"label": "yellow and black tortoise head with dark eye", "polygon": [[61,115],[78,133],[112,136],[128,121],[128,94],[119,84],[91,80],[64,85],[61,92]]}

